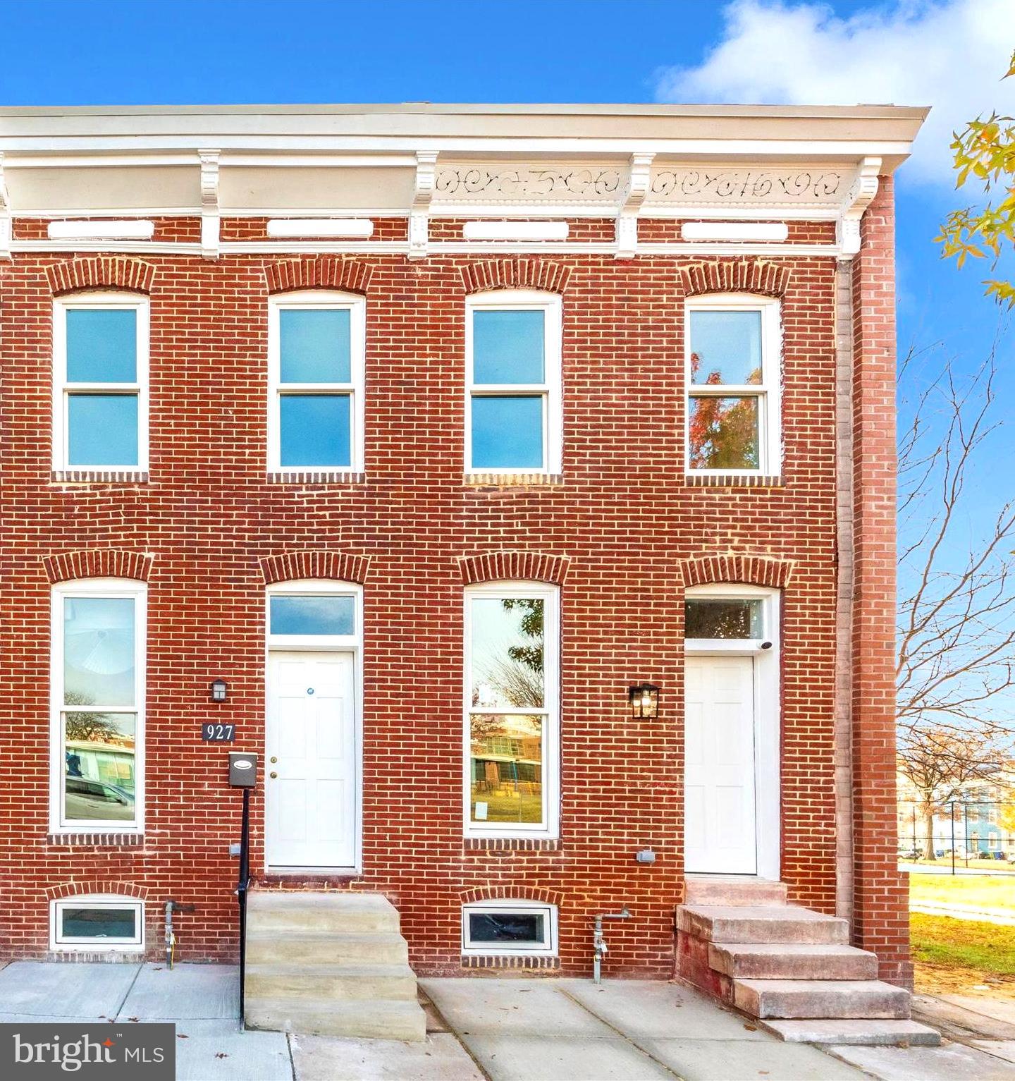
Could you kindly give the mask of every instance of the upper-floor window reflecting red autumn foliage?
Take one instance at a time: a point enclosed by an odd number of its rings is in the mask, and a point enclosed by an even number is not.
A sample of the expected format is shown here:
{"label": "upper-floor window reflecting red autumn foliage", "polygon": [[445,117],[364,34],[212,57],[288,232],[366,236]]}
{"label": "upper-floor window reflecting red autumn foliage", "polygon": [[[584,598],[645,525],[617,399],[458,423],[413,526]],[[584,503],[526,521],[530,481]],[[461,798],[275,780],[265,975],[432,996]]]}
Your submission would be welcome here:
{"label": "upper-floor window reflecting red autumn foliage", "polygon": [[686,315],[689,472],[777,475],[778,302],[699,296]]}

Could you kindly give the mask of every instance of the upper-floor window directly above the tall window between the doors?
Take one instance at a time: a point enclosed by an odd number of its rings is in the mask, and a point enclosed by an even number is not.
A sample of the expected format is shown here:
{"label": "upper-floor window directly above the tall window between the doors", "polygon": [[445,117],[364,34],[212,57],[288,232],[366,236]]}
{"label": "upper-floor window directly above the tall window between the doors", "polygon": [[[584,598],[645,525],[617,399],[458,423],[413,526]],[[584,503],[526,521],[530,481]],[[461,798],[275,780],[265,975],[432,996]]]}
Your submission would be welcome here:
{"label": "upper-floor window directly above the tall window between the doors", "polygon": [[560,472],[560,297],[466,302],[466,471]]}

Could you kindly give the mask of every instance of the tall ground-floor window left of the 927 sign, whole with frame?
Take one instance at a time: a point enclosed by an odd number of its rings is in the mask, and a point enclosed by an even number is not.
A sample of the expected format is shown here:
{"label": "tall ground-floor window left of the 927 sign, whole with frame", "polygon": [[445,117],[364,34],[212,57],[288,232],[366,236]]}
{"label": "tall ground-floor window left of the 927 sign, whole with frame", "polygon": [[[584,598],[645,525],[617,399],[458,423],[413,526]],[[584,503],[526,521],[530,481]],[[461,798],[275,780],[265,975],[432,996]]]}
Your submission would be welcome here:
{"label": "tall ground-floor window left of the 927 sign, whole with frame", "polygon": [[145,586],[117,578],[53,590],[54,832],[143,827]]}

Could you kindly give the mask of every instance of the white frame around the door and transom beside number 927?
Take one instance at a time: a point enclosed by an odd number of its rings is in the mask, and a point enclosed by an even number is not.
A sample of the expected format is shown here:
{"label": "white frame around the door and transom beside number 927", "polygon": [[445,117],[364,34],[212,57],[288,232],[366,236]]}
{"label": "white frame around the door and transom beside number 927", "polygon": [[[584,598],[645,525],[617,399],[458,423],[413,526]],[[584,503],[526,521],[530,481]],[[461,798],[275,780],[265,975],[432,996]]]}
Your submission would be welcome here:
{"label": "white frame around the door and transom beside number 927", "polygon": [[[355,602],[353,633],[289,636],[271,635],[270,603],[272,597],[298,596],[352,597]],[[271,653],[349,653],[352,655],[352,705],[356,740],[356,858],[352,867],[281,867],[272,868],[266,863],[265,870],[273,875],[305,875],[308,872],[330,875],[360,875],[363,869],[363,587],[355,582],[337,582],[333,578],[299,578],[293,582],[276,582],[265,588],[265,733],[268,724],[268,708],[271,700],[269,685]],[[268,757],[265,752],[265,778],[267,782]],[[267,798],[267,797],[266,797]]]}

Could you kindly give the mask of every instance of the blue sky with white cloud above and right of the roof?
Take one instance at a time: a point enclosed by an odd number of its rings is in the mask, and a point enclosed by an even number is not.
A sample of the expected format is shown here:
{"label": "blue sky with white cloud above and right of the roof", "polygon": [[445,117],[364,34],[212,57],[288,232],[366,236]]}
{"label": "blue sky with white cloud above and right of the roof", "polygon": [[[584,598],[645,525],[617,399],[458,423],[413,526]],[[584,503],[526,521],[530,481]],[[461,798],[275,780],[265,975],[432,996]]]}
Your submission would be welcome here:
{"label": "blue sky with white cloud above and right of the roof", "polygon": [[[936,106],[898,176],[899,347],[935,343],[959,372],[998,331],[979,267],[933,243],[956,205],[948,132],[1015,112],[1002,85],[1011,0],[414,0],[405,3],[8,3],[0,102],[895,102]],[[1010,339],[1002,341],[1011,360]],[[904,393],[911,388],[904,388]],[[1005,365],[1002,392],[1015,391]],[[999,439],[971,515],[1007,481]],[[994,483],[997,481],[997,484]]]}

